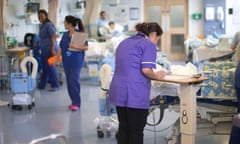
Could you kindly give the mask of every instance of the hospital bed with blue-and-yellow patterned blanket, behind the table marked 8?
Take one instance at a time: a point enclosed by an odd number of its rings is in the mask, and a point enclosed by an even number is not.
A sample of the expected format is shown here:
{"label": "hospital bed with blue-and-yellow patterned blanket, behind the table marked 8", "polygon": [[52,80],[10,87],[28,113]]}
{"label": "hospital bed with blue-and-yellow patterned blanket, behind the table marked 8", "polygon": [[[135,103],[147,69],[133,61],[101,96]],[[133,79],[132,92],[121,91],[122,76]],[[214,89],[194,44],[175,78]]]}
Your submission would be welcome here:
{"label": "hospital bed with blue-and-yellow patterned blanket, behind the table marked 8", "polygon": [[[197,121],[201,125],[198,127],[205,125],[204,129],[206,130],[200,130],[205,134],[229,134],[230,132],[232,117],[237,112],[237,99],[233,87],[234,67],[236,67],[236,63],[225,61],[206,63],[203,66],[202,74],[208,80],[197,86],[196,98]],[[177,69],[179,68],[178,66]],[[183,71],[180,70],[179,73],[182,74]],[[185,71],[189,71],[189,69],[185,68]],[[180,86],[159,81],[153,81],[152,86],[158,91],[158,95],[151,100],[150,111],[152,112],[156,108],[160,109],[159,121],[151,123],[154,126],[163,119],[165,109],[171,108],[179,112]],[[224,128],[221,127],[222,124],[225,124]],[[172,126],[172,132],[165,138],[168,144],[176,144],[179,136],[180,125],[177,120]]]}

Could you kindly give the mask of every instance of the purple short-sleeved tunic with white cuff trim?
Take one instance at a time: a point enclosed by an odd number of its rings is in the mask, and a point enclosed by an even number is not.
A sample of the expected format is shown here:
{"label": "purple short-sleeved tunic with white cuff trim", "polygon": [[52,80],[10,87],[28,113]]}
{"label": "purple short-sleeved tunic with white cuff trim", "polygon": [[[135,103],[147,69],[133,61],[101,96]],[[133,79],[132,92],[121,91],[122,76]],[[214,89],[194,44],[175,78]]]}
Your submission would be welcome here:
{"label": "purple short-sleeved tunic with white cuff trim", "polygon": [[110,85],[110,103],[129,108],[148,109],[150,80],[142,68],[155,68],[156,46],[144,34],[122,41],[116,50],[116,69]]}

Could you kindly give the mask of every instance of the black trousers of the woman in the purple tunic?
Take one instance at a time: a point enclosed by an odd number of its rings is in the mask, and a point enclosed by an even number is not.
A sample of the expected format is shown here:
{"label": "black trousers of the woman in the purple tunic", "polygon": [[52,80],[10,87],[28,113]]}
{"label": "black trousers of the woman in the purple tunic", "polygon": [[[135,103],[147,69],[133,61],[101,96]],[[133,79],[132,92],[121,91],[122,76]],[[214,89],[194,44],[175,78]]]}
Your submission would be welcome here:
{"label": "black trousers of the woman in the purple tunic", "polygon": [[143,130],[148,110],[117,107],[119,128],[118,144],[143,144]]}

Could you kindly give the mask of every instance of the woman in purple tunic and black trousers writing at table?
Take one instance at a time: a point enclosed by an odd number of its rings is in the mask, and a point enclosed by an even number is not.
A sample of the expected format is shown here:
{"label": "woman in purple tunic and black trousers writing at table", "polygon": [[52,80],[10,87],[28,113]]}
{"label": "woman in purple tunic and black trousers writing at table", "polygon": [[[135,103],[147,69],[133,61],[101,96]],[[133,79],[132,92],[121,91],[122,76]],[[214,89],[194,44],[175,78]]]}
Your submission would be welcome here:
{"label": "woman in purple tunic and black trousers writing at table", "polygon": [[150,80],[166,75],[165,71],[153,71],[161,27],[157,23],[141,23],[136,30],[137,34],[122,41],[116,50],[116,69],[109,91],[110,103],[117,108],[118,144],[143,144]]}

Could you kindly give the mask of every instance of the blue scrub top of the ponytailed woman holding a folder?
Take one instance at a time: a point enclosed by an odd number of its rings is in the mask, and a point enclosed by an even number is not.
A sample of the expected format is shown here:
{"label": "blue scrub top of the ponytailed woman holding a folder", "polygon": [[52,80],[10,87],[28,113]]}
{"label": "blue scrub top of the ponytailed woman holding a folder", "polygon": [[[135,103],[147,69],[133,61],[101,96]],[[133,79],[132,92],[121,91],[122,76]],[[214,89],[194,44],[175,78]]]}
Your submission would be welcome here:
{"label": "blue scrub top of the ponytailed woman holding a folder", "polygon": [[[81,68],[84,63],[84,51],[69,51],[69,44],[71,37],[69,32],[65,32],[60,41],[60,48],[62,49],[62,60],[64,68]],[[87,45],[87,43],[86,43]]]}

